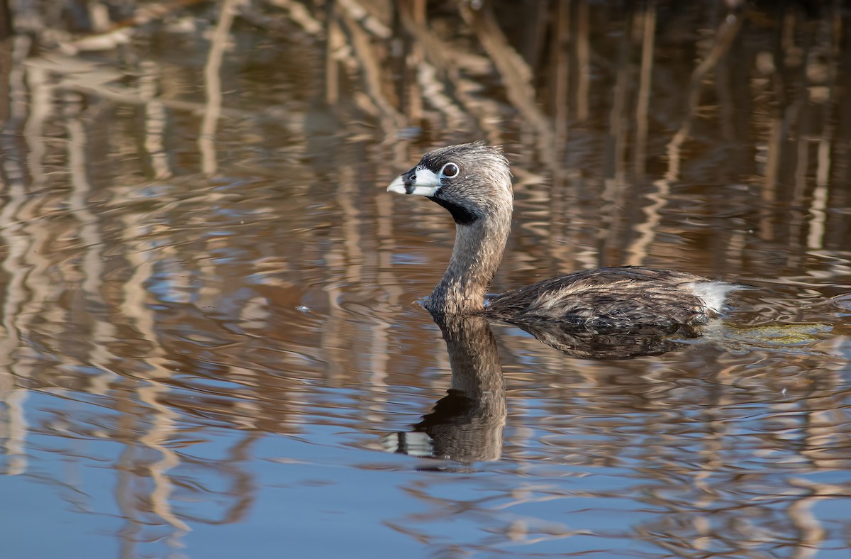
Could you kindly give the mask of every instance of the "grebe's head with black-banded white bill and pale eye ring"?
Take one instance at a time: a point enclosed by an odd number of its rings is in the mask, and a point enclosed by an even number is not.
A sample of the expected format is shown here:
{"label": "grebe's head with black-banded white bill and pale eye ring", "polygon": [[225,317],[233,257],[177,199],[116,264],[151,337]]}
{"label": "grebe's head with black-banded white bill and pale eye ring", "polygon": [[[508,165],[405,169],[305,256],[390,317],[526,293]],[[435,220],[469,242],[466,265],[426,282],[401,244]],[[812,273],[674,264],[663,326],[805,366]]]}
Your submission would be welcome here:
{"label": "grebe's head with black-banded white bill and pale eye ring", "polygon": [[447,208],[459,225],[506,211],[511,215],[513,204],[508,161],[500,148],[484,142],[429,151],[387,190],[425,196]]}

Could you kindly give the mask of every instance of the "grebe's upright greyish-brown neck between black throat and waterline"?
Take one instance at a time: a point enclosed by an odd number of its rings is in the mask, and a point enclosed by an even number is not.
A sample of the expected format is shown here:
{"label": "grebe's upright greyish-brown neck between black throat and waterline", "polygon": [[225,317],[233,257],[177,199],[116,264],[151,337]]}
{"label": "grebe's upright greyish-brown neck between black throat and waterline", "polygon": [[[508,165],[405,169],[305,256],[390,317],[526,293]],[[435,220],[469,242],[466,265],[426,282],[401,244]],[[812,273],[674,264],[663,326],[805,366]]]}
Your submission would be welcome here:
{"label": "grebe's upright greyish-brown neck between black throat and waterline", "polygon": [[452,259],[426,301],[426,309],[448,315],[472,315],[484,309],[488,285],[500,266],[511,231],[511,201],[469,224],[455,225]]}

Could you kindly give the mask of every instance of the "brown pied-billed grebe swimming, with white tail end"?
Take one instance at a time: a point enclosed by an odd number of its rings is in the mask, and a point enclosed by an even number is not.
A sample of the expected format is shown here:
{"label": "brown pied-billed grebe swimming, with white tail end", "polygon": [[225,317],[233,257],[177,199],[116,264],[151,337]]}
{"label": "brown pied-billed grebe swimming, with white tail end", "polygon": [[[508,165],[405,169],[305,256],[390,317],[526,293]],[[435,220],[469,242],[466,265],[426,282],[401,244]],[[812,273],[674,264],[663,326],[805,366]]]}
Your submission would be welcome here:
{"label": "brown pied-billed grebe swimming, with white tail end", "polygon": [[690,327],[707,322],[740,286],[641,266],[599,268],[552,277],[485,302],[511,229],[511,171],[483,142],[430,151],[387,187],[427,197],[455,220],[452,258],[426,309],[505,322],[563,322],[607,330]]}

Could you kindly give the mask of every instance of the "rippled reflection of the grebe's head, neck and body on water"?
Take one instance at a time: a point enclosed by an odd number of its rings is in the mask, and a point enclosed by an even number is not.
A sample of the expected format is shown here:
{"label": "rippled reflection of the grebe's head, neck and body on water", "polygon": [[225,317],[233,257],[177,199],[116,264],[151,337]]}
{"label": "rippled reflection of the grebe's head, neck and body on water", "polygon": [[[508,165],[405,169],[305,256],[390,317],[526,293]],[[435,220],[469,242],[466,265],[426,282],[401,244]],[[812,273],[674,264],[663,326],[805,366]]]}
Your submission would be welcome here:
{"label": "rippled reflection of the grebe's head, neck and body on water", "polygon": [[[505,428],[505,378],[488,319],[432,313],[443,334],[452,369],[447,395],[423,416],[412,431],[383,437],[387,452],[449,459],[471,465],[498,460]],[[670,330],[643,328],[630,332],[600,332],[565,328],[542,322],[523,324],[523,330],[572,357],[628,359],[678,349],[682,342]],[[688,331],[676,335],[691,337]]]}

